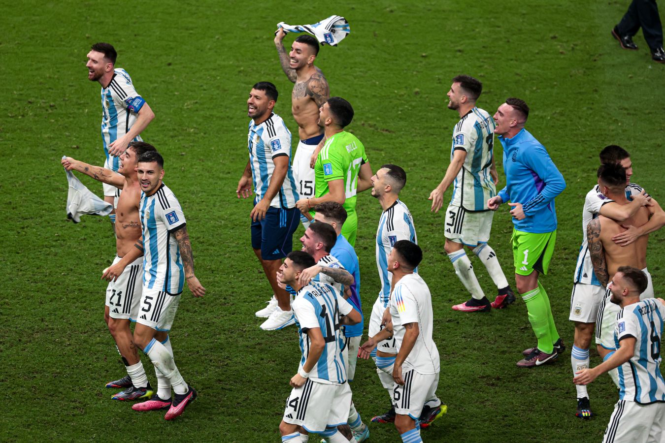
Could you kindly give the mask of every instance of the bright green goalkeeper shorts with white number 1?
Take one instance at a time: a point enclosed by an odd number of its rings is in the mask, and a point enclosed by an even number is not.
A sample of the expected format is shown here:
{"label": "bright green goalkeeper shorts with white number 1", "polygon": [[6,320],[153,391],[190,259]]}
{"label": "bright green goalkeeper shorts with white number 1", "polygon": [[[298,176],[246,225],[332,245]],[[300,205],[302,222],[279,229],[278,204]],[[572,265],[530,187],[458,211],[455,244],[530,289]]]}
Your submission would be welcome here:
{"label": "bright green goalkeeper shorts with white number 1", "polygon": [[547,274],[549,261],[554,254],[557,230],[534,234],[513,228],[513,260],[515,274],[528,276],[534,270]]}

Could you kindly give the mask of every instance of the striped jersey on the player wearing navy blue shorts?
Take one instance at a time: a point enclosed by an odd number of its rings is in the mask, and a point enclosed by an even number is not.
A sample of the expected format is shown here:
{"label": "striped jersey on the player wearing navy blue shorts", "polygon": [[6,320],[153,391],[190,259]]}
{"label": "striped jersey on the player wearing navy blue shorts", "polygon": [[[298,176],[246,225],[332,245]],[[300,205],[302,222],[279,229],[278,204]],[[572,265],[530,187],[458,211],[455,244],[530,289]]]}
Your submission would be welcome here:
{"label": "striped jersey on the player wearing navy blue shorts", "polygon": [[298,188],[291,169],[291,132],[284,120],[277,114],[271,114],[265,122],[258,125],[254,124],[254,120],[249,120],[247,149],[256,194],[254,203],[258,203],[268,191],[273,171],[275,171],[273,159],[286,155],[289,158],[289,169],[282,187],[270,202],[270,206],[284,209],[295,207],[295,202],[298,200]]}

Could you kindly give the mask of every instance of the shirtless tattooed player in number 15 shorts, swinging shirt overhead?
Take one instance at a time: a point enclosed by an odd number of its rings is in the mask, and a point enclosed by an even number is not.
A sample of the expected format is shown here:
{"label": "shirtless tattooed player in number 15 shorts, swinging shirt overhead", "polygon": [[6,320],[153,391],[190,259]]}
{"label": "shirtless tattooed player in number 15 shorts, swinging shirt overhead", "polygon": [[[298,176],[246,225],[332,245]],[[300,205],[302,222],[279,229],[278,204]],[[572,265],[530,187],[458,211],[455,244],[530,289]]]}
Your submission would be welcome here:
{"label": "shirtless tattooed player in number 15 shorts, swinging shirt overhead", "polygon": [[[287,54],[284,40],[287,33],[277,29],[275,46],[279,53],[279,62],[284,73],[293,85],[291,92],[291,112],[298,124],[300,142],[293,156],[293,175],[301,199],[314,197],[314,163],[317,153],[325,141],[323,128],[319,126],[319,108],[330,98],[328,80],[321,69],[314,66],[319,54],[319,42],[311,35],[300,35],[291,45]],[[318,149],[317,149],[318,146]],[[309,221],[301,215],[305,228]]]}

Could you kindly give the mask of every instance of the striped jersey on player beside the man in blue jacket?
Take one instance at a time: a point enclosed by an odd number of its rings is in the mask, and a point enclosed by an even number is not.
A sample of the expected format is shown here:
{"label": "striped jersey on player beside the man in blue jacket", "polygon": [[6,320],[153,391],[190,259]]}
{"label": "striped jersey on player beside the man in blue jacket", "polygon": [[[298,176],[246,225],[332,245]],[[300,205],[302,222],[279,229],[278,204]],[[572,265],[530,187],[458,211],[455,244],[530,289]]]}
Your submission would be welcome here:
{"label": "striped jersey on player beside the man in blue jacket", "polygon": [[489,170],[494,155],[494,119],[480,108],[464,115],[453,130],[450,161],[456,150],[466,151],[462,169],[453,183],[451,205],[469,212],[489,211],[487,200],[497,195]]}

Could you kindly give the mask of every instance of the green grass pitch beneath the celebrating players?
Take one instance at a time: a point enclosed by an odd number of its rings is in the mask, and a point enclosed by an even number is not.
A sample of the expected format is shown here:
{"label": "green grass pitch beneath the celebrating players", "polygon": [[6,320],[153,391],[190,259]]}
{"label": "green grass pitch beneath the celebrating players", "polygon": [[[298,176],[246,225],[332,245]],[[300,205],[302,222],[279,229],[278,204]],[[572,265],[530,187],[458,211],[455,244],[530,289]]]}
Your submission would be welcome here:
{"label": "green grass pitch beneath the celebrating players", "polygon": [[[2,3],[0,440],[279,441],[299,349],[295,328],[263,332],[253,314],[270,290],[249,246],[251,204],[235,197],[247,161],[245,100],[254,82],[274,82],[281,92],[276,111],[296,133],[291,84],[273,44],[275,24],[313,23],[332,14],[348,19],[351,34],[336,48],[322,48],[317,66],[332,94],[353,104],[349,128],[373,169],[390,162],[408,173],[401,197],[424,248],[420,269],[432,290],[441,355],[438,393],[449,405],[448,414],[422,433],[424,440],[602,439],[616,401],[608,377],[589,388],[596,416],[583,422],[573,415],[569,351],[555,365],[515,367],[520,351],[535,343],[521,300],[487,315],[450,310],[467,294],[443,252],[442,215],[430,213],[427,197],[450,159],[458,116],[444,99],[453,76],[479,78],[478,105],[491,114],[509,96],[526,100],[532,109],[527,129],[567,181],[557,199],[559,236],[543,284],[570,349],[581,209],[595,183],[598,151],[610,143],[626,147],[634,181],[665,202],[664,66],[650,60],[641,33],[638,51],[621,50],[610,37],[628,0]],[[186,290],[172,329],[176,362],[199,391],[175,422],[157,412],[138,414],[104,389],[124,373],[102,319],[105,283],[99,280],[114,242],[108,219],[65,220],[60,157],[102,163],[100,88],[86,79],[84,67],[97,41],[116,46],[116,66],[130,73],[156,113],[144,139],[166,158],[164,180],[184,207],[196,274],[207,288],[203,300]],[[98,183],[82,181],[101,192]],[[495,215],[491,244],[511,281],[507,211]],[[358,214],[368,317],[378,292],[380,216],[369,193],[358,197]],[[648,254],[660,296],[662,238],[652,234]],[[483,266],[475,269],[493,298]],[[152,365],[143,361],[154,383]],[[366,422],[388,405],[370,362],[358,362],[352,390]],[[370,442],[399,441],[390,425],[371,424],[370,432]]]}

